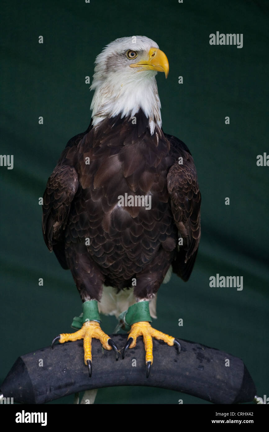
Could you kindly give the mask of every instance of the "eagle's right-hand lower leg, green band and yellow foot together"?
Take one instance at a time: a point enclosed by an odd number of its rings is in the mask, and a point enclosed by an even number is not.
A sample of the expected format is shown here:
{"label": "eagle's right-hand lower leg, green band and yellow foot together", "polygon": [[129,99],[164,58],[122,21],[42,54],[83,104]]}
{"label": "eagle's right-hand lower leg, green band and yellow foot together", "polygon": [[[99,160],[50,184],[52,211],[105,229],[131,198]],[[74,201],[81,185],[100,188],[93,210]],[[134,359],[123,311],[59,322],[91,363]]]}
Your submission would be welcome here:
{"label": "eagle's right-hand lower leg, green band and yellow foot together", "polygon": [[146,376],[149,377],[150,367],[153,363],[153,343],[152,337],[158,340],[163,340],[169,346],[175,345],[177,352],[180,353],[180,343],[174,337],[168,334],[162,333],[161,331],[155,330],[150,321],[151,317],[149,314],[149,302],[142,301],[138,302],[133,306],[130,306],[127,313],[125,314],[124,321],[126,324],[131,325],[127,344],[123,350],[123,359],[128,348],[134,348],[136,346],[136,339],[138,336],[143,337],[145,350],[146,350]]}

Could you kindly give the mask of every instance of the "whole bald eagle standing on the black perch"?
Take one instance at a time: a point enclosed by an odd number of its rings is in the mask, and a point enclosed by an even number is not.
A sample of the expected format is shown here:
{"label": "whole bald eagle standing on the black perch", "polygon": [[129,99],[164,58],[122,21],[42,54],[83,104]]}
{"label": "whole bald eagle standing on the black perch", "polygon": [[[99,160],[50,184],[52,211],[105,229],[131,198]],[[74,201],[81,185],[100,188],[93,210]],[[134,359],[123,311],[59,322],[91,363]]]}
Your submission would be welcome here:
{"label": "whole bald eagle standing on the black perch", "polygon": [[161,127],[155,75],[168,70],[164,52],[145,36],[108,44],[95,60],[90,125],[68,141],[44,192],[44,241],[71,270],[83,309],[73,321],[77,331],[53,343],[83,339],[90,376],[92,337],[119,355],[100,313],[116,315],[130,331],[123,358],[143,336],[147,376],[152,338],[180,351],[150,324],[165,276],[173,270],[189,279],[200,240],[193,158]]}

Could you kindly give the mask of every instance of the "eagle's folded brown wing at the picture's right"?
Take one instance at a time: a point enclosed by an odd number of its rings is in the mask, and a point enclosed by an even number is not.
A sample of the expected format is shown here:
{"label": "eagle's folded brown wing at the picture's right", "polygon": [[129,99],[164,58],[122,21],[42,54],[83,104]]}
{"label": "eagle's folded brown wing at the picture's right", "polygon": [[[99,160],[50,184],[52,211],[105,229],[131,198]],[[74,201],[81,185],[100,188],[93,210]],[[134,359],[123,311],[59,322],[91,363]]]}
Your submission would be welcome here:
{"label": "eagle's folded brown wing at the picture's right", "polygon": [[178,237],[183,238],[183,245],[178,247],[172,267],[178,276],[187,281],[193,270],[201,237],[201,194],[193,158],[187,146],[175,137],[166,135],[166,138],[174,152],[183,157],[182,164],[175,162],[169,169],[167,185]]}

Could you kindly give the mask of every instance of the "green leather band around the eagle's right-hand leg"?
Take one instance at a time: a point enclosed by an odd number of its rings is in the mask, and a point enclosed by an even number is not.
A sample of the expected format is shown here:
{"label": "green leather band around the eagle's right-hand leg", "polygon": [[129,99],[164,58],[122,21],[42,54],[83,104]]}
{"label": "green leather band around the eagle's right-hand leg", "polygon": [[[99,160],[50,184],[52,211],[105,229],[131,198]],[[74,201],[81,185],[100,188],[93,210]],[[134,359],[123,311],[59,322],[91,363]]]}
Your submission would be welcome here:
{"label": "green leather band around the eagle's right-hand leg", "polygon": [[117,326],[123,328],[126,331],[131,330],[131,325],[138,323],[139,321],[152,321],[149,314],[149,302],[138,302],[128,308],[128,311],[124,311],[119,316],[120,323]]}

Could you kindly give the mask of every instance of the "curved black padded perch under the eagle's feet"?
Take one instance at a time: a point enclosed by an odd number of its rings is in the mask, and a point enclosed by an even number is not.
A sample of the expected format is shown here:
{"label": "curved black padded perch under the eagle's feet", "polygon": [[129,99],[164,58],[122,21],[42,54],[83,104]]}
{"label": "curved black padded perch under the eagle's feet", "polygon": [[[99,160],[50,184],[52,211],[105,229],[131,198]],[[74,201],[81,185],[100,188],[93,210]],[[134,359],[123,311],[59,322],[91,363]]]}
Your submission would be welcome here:
{"label": "curved black padded perch under the eagle's feet", "polygon": [[[121,353],[127,335],[111,338]],[[66,342],[39,349],[19,357],[1,385],[3,397],[19,403],[46,403],[79,391],[139,385],[166,388],[191,394],[212,403],[253,401],[256,388],[244,362],[231,354],[186,340],[175,346],[153,340],[154,361],[146,378],[145,349],[142,337],[136,348],[116,362],[113,351],[102,349],[92,340],[92,378],[83,359],[83,342]],[[43,360],[43,366],[38,364]],[[136,360],[136,366],[133,359]],[[230,366],[225,366],[229,359]]]}

